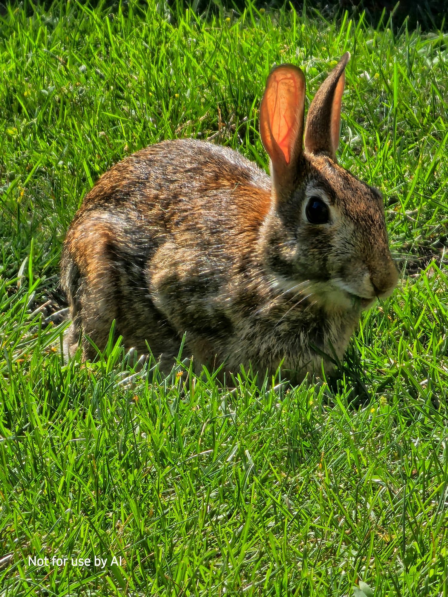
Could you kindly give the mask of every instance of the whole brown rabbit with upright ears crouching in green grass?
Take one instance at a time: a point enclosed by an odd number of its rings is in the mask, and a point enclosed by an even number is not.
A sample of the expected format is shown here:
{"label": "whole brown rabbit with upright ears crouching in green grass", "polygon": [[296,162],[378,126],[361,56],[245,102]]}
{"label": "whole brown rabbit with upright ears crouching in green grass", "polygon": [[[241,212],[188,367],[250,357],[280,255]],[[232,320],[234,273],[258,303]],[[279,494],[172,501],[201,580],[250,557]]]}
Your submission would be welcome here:
{"label": "whole brown rabbit with upright ears crouching in green grass", "polygon": [[[378,190],[336,163],[344,54],[311,103],[305,76],[275,67],[260,106],[271,179],[227,147],[164,141],[116,164],[84,199],[62,256],[66,352],[104,349],[115,319],[128,349],[169,370],[183,355],[291,381],[341,359],[361,310],[397,268]],[[305,149],[303,149],[303,144]],[[330,358],[322,358],[326,353]]]}

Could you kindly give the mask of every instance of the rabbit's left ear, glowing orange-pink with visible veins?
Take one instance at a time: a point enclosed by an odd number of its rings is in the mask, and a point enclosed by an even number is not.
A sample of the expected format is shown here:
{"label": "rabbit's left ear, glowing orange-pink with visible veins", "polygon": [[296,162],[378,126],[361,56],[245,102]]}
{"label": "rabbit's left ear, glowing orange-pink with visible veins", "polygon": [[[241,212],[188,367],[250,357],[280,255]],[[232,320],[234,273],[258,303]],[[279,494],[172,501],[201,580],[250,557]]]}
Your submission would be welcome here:
{"label": "rabbit's left ear, glowing orange-pink with visible veins", "polygon": [[305,75],[293,64],[269,73],[260,105],[260,134],[271,158],[274,184],[289,186],[302,156]]}

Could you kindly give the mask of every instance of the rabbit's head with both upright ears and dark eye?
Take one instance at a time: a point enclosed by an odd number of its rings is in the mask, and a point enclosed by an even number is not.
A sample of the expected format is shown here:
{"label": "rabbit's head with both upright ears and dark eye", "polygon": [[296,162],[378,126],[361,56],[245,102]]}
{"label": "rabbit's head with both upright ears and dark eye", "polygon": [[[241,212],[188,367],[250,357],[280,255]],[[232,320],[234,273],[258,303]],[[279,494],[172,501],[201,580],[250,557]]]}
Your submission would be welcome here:
{"label": "rabbit's head with both upright ears and dark eye", "polygon": [[327,310],[366,309],[389,296],[398,279],[381,193],[336,161],[349,58],[342,56],[317,91],[305,135],[305,76],[296,66],[271,71],[260,106],[272,177],[262,235],[266,266],[280,288]]}

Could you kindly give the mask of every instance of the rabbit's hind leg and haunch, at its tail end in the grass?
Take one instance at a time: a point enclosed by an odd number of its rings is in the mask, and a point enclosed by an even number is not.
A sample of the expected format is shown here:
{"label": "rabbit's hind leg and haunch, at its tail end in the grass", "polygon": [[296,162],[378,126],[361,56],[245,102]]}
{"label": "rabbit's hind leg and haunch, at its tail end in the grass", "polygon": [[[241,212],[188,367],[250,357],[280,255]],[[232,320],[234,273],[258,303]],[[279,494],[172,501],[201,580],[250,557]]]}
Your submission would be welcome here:
{"label": "rabbit's hind leg and haunch, at its tail end in the grass", "polygon": [[104,350],[115,319],[115,338],[123,337],[126,350],[145,355],[148,344],[162,370],[169,371],[182,337],[149,293],[151,242],[138,247],[123,227],[116,217],[108,221],[103,213],[90,213],[69,230],[61,262],[72,320],[65,353],[73,354],[79,343],[82,359],[94,359],[97,351],[91,342]]}

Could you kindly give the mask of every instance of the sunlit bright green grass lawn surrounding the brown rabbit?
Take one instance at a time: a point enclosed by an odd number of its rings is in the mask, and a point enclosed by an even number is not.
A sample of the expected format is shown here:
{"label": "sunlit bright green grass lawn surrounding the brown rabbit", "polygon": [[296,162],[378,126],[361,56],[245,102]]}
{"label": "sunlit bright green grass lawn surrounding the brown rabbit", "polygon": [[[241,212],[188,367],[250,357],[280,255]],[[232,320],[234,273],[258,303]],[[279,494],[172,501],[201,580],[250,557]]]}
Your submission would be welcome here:
{"label": "sunlit bright green grass lawn surrounding the brown rabbit", "polygon": [[[1,597],[448,596],[447,42],[253,5],[1,17]],[[337,383],[164,380],[119,345],[63,364],[48,316],[94,180],[185,136],[266,167],[272,64],[299,64],[311,98],[346,50],[340,163],[384,193],[403,276]]]}

